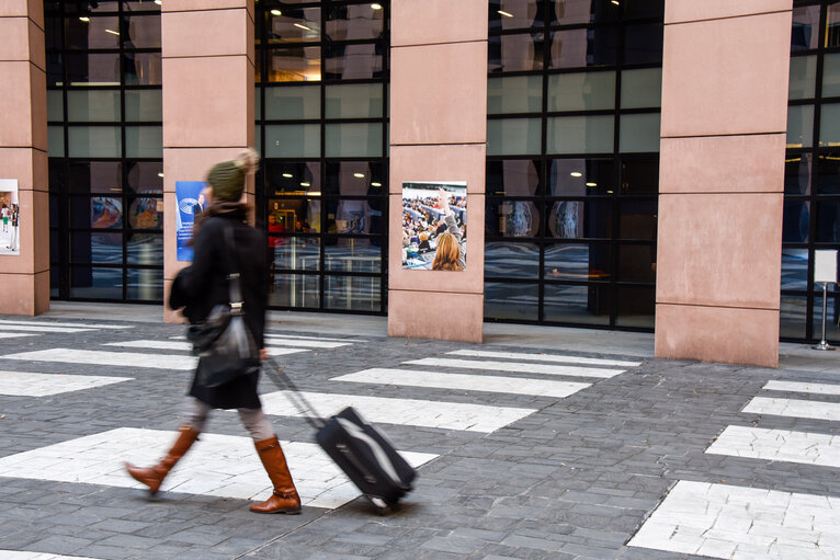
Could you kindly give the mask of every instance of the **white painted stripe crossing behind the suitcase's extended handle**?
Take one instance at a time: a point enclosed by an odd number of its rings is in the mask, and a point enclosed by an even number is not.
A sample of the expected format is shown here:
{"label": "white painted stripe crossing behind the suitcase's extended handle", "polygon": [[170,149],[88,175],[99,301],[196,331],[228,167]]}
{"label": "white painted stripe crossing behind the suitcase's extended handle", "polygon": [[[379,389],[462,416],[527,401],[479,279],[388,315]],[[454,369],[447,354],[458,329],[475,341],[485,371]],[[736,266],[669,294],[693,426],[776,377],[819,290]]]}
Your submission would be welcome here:
{"label": "white painted stripe crossing behind the suitcase's extended handle", "polygon": [[[313,404],[316,412],[325,416],[337,414],[347,407],[353,407],[365,420],[376,424],[463,430],[487,434],[536,412],[534,409],[418,399],[391,399],[325,392],[303,392],[302,395]],[[294,402],[288,399],[288,391],[261,395],[260,400],[262,401],[262,410],[266,414],[302,415]]]}

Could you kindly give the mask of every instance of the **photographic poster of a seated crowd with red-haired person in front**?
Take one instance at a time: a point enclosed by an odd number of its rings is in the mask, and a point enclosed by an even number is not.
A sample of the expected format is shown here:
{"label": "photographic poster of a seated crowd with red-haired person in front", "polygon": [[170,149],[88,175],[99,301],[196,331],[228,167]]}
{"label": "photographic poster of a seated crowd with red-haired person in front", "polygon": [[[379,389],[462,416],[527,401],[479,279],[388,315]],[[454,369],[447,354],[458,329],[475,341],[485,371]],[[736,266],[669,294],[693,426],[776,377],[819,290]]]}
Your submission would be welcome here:
{"label": "photographic poster of a seated crowd with red-haired person in front", "polygon": [[402,267],[464,271],[466,266],[466,181],[404,182]]}

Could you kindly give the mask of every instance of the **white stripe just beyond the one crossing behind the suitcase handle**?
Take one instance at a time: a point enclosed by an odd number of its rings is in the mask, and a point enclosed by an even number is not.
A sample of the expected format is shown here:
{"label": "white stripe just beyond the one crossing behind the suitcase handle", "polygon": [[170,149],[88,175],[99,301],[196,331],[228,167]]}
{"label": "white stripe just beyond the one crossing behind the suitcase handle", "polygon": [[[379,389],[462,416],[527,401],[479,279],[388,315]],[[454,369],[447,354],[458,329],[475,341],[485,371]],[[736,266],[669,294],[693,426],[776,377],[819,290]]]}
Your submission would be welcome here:
{"label": "white stripe just beyond the one crossing behind the suitcase handle", "polygon": [[463,391],[503,392],[512,395],[537,395],[564,399],[591,384],[572,381],[550,381],[547,379],[521,379],[519,377],[499,377],[490,375],[441,374],[417,369],[372,368],[355,374],[333,377],[332,381],[353,381],[359,384],[402,385],[408,387],[430,387]]}

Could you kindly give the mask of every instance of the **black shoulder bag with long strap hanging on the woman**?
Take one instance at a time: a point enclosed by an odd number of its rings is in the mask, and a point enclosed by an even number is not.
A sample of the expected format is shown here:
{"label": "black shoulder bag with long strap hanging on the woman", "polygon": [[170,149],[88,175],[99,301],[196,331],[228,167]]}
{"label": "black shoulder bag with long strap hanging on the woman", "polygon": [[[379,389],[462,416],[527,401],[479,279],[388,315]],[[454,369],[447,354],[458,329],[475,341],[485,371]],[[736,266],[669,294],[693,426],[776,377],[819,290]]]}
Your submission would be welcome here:
{"label": "black shoulder bag with long strap hanging on the woman", "polygon": [[218,387],[260,367],[260,350],[245,322],[242,290],[232,230],[225,227],[225,244],[232,259],[228,279],[228,302],[214,307],[201,324],[190,325],[186,338],[193,354],[201,358],[197,381],[204,387]]}

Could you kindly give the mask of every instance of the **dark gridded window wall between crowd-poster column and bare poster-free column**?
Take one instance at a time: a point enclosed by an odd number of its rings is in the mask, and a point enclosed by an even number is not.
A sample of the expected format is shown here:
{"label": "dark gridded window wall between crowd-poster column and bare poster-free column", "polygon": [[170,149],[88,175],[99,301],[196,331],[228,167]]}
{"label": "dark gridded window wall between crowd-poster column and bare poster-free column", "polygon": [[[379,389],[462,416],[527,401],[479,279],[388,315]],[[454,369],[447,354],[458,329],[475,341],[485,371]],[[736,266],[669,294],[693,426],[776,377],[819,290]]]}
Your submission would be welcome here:
{"label": "dark gridded window wall between crowd-poster column and bare poster-free column", "polygon": [[490,0],[486,319],[652,329],[662,28],[662,0]]}

